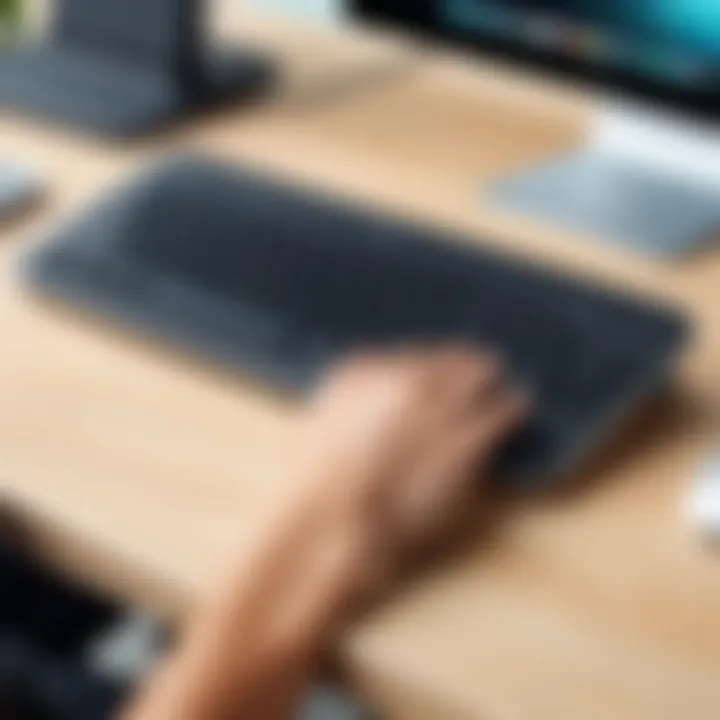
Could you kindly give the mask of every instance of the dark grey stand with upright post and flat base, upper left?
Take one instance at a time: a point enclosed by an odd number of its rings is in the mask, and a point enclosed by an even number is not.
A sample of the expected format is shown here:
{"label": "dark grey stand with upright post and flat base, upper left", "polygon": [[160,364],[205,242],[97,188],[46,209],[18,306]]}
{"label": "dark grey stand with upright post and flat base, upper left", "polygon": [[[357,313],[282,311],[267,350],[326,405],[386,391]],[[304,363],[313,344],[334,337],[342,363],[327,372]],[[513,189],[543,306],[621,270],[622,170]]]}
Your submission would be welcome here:
{"label": "dark grey stand with upright post and flat base, upper left", "polygon": [[256,96],[270,63],[211,45],[204,0],[57,0],[50,37],[0,54],[0,106],[104,136]]}

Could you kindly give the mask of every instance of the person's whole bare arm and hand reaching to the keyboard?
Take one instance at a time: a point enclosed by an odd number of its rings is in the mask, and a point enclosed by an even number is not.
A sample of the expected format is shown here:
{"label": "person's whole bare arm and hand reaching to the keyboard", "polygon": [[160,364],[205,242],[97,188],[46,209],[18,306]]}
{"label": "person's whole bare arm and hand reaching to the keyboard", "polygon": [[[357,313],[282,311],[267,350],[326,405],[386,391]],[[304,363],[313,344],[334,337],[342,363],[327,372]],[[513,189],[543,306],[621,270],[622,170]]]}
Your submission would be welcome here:
{"label": "person's whole bare arm and hand reaching to the keyboard", "polygon": [[126,720],[284,720],[365,603],[476,505],[528,399],[467,347],[366,354],[313,398],[293,490]]}

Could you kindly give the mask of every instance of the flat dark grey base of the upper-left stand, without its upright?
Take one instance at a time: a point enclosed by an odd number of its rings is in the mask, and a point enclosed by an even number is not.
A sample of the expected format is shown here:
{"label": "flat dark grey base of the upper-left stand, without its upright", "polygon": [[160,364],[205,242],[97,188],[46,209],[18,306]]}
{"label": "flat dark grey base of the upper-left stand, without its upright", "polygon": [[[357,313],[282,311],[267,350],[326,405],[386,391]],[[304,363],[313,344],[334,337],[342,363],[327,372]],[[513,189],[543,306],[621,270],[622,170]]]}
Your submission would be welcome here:
{"label": "flat dark grey base of the upper-left stand, without its upright", "polygon": [[25,46],[0,63],[0,105],[107,137],[146,135],[199,111],[257,97],[262,58],[214,52],[192,78],[67,44]]}

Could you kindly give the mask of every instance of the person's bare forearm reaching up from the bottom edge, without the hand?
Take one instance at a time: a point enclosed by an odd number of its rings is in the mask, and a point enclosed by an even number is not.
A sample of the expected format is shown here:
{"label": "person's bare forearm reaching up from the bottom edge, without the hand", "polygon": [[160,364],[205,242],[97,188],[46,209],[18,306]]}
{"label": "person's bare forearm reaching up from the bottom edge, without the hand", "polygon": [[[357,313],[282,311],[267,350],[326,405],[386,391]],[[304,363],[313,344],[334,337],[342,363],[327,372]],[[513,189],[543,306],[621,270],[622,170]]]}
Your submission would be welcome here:
{"label": "person's bare forearm reaching up from the bottom edge, without the hand", "polygon": [[361,554],[336,519],[273,521],[129,720],[284,720],[348,620]]}

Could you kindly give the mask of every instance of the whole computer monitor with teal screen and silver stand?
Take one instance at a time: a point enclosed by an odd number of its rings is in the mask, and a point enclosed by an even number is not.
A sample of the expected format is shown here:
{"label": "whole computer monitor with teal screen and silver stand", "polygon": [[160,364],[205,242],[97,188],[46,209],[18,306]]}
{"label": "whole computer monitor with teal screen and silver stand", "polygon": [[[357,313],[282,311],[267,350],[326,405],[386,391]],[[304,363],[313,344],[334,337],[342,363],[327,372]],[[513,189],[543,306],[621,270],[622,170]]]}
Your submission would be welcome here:
{"label": "whole computer monitor with teal screen and silver stand", "polygon": [[353,10],[603,89],[586,145],[503,179],[497,202],[665,255],[720,234],[720,2],[353,0]]}

